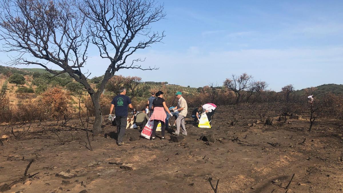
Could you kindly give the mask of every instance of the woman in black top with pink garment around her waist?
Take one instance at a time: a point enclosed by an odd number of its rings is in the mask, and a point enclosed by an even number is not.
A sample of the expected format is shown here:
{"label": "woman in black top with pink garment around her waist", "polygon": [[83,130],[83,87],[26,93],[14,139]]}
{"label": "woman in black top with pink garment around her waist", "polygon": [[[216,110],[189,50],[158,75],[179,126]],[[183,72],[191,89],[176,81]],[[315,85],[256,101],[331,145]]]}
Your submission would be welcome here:
{"label": "woman in black top with pink garment around her waist", "polygon": [[173,116],[173,114],[170,113],[166,105],[166,102],[163,99],[162,91],[158,91],[156,93],[156,99],[154,99],[151,109],[154,110],[154,113],[150,117],[150,120],[154,122],[154,126],[152,128],[151,140],[152,141],[156,140],[155,133],[156,133],[156,128],[159,122],[161,122],[161,130],[162,130],[161,140],[166,140],[166,138],[164,137],[165,126],[166,126],[165,120],[167,117],[165,111],[167,111],[170,114],[170,116]]}

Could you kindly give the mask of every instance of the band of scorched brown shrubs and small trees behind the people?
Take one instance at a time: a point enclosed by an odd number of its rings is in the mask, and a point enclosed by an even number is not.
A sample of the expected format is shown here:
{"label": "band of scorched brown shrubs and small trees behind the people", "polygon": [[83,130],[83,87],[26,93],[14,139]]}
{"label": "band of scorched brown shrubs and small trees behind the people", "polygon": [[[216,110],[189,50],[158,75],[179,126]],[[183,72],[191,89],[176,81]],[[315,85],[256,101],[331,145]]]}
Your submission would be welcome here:
{"label": "band of scorched brown shrubs and small trees behind the people", "polygon": [[[43,76],[44,77],[44,76]],[[33,76],[35,80],[45,80],[42,75]],[[48,80],[46,80],[48,81]],[[51,81],[51,80],[49,80]],[[94,84],[100,82],[97,77],[91,80]],[[38,81],[37,81],[38,82]],[[72,84],[71,84],[72,83]],[[47,85],[47,82],[43,82]],[[81,84],[69,82],[65,88],[61,86],[50,85],[38,93],[37,98],[21,100],[16,105],[11,105],[7,96],[7,83],[1,87],[0,97],[0,122],[33,122],[44,120],[55,120],[61,124],[66,124],[70,118],[77,118],[77,102],[72,99],[80,96],[81,114],[84,116],[88,111],[89,116],[94,116],[94,106],[91,98],[85,95]],[[163,91],[168,106],[174,106],[177,103],[174,93],[183,91],[183,87],[171,87],[164,83],[151,88],[149,84],[142,82],[140,77],[114,76],[105,85],[106,92],[100,96],[100,106],[103,112],[109,111],[111,98],[117,94],[120,87],[126,87],[132,102],[135,106],[144,107],[146,99],[150,93]],[[310,127],[315,123],[318,117],[332,117],[338,126],[341,126],[343,114],[343,98],[340,95],[326,93],[316,96],[316,88],[305,89],[303,93],[294,92],[293,85],[284,86],[281,92],[267,90],[268,83],[264,81],[255,81],[251,75],[244,73],[240,76],[232,75],[226,79],[222,86],[210,83],[207,86],[198,88],[196,92],[184,92],[184,98],[188,101],[189,106],[198,106],[204,103],[215,103],[217,105],[240,105],[244,103],[256,104],[252,108],[260,110],[260,119],[266,118],[266,111],[272,110],[272,105],[278,104],[280,118],[291,114],[308,114]],[[39,88],[37,86],[36,90]],[[37,93],[37,91],[36,91]],[[309,103],[307,96],[314,94],[314,102]],[[255,107],[254,107],[255,106]],[[275,114],[276,115],[276,114]],[[274,115],[274,116],[275,116]]]}

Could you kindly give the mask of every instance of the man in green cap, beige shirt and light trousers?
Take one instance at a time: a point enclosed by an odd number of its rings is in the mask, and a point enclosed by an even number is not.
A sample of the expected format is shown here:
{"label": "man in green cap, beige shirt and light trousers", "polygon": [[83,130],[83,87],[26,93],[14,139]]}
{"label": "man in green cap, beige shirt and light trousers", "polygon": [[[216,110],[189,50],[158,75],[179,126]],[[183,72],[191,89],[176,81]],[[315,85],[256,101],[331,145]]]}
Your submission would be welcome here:
{"label": "man in green cap, beige shirt and light trousers", "polygon": [[[179,112],[179,116],[176,119],[176,131],[172,134],[174,135],[187,135],[186,126],[185,126],[185,118],[187,115],[187,102],[182,97],[182,92],[178,91],[175,93],[176,97],[179,99],[177,103],[177,107],[173,108],[171,111]],[[180,134],[180,126],[182,128],[182,133]]]}

